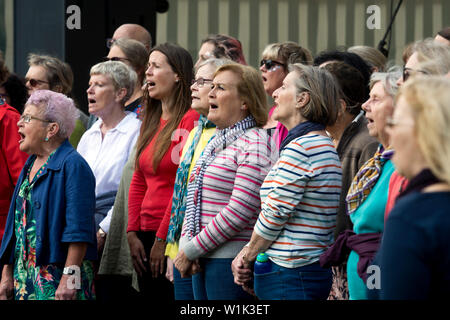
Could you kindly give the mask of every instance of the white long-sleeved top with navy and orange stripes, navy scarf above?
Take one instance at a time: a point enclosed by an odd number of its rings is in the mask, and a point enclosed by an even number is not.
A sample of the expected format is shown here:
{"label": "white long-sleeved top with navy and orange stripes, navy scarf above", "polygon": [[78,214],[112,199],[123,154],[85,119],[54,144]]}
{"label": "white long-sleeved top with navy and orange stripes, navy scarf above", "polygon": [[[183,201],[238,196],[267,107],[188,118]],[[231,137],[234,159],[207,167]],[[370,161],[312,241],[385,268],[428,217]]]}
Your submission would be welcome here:
{"label": "white long-sleeved top with navy and orange stripes, navy scarf above", "polygon": [[266,254],[298,268],[319,260],[333,243],[342,169],[330,138],[308,134],[281,152],[261,186],[255,232],[273,241]]}

